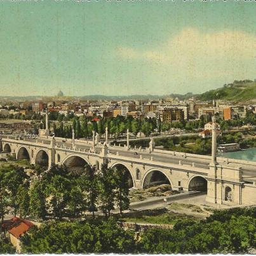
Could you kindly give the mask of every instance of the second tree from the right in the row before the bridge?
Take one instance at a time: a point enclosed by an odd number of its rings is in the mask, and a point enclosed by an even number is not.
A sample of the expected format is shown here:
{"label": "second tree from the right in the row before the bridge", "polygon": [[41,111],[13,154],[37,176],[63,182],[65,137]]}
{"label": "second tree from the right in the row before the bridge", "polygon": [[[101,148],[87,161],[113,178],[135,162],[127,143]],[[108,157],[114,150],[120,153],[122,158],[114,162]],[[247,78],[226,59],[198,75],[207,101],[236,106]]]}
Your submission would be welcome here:
{"label": "second tree from the right in the row before the bridge", "polygon": [[114,170],[107,168],[107,165],[102,165],[99,174],[98,205],[106,218],[114,209],[115,185]]}

